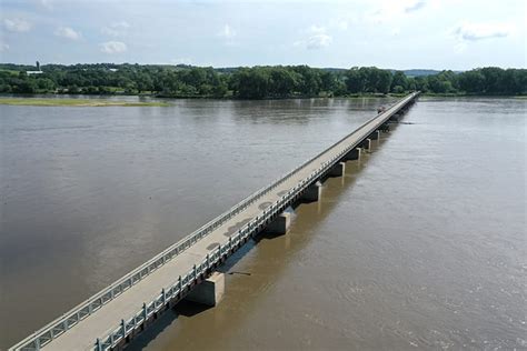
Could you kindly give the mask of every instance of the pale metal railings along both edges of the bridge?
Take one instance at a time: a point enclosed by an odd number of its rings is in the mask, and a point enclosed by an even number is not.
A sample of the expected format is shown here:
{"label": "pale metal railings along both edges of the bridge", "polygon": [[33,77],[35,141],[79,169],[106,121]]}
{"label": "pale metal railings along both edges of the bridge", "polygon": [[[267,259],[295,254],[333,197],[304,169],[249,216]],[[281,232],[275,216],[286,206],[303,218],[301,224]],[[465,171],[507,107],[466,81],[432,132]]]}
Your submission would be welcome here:
{"label": "pale metal railings along both edges of the bridge", "polygon": [[[217,218],[212,219],[208,223],[200,227],[198,230],[193,231],[191,234],[187,235],[186,238],[181,239],[177,243],[170,245],[168,249],[163,250],[149,261],[145,262],[133,271],[129,272],[128,274],[123,275],[119,280],[117,280],[111,285],[105,288],[100,292],[96,293],[88,300],[81,302],[77,307],[72,308],[67,313],[62,314],[54,321],[48,323],[40,330],[33,332],[12,348],[10,350],[39,350],[40,348],[44,347],[53,339],[58,338],[69,329],[73,328],[80,321],[102,308],[109,301],[113,300],[115,298],[119,297],[121,293],[133,287],[137,282],[141,281],[146,277],[148,277],[151,272],[156,271],[158,268],[167,263],[168,261],[172,260],[177,257],[180,252],[187,250],[189,247],[195,244],[197,241],[202,239],[203,237],[208,235],[210,232],[216,230],[218,227],[223,224],[226,221],[230,220],[232,217],[237,215],[247,207],[252,204],[255,201],[260,199],[262,195],[267,194],[272,189],[277,188],[280,183],[289,179],[292,174],[297,173],[299,170],[308,166],[309,163],[316,161],[325,153],[334,150],[335,148],[339,147],[345,140],[348,138],[359,133],[365,127],[372,124],[371,131],[376,130],[378,126],[385,123],[392,114],[397,113],[401,108],[404,108],[409,101],[411,101],[419,92],[414,92],[410,96],[406,97],[399,102],[392,104],[389,109],[385,112],[371,118],[370,120],[362,123],[359,128],[357,128],[350,134],[344,137],[338,142],[329,147],[328,149],[321,151],[317,156],[308,159],[306,162],[301,163],[294,170],[287,172],[286,174],[279,177],[276,181],[270,183],[269,185],[261,188],[260,190],[256,191],[251,195],[247,197],[245,200],[229,209],[227,212],[218,215]],[[382,117],[382,118],[381,118]],[[376,123],[374,123],[377,121]],[[366,133],[365,138],[368,137]],[[357,147],[360,143],[359,140],[356,143],[352,143],[345,148],[342,151],[338,152],[335,157],[332,157],[329,161],[324,162],[316,171],[311,172],[307,179],[301,180],[292,190],[290,190],[287,194],[285,194],[279,201],[275,202],[271,207],[264,210],[262,217],[256,217],[252,221],[247,223],[238,233],[235,235],[233,241],[229,238],[229,247],[218,247],[213,251],[213,253],[207,255],[207,259],[193,267],[193,269],[188,272],[183,277],[179,277],[178,281],[169,287],[168,289],[162,289],[160,294],[151,302],[143,303],[142,309],[140,309],[133,318],[125,321],[121,320],[121,324],[112,329],[108,332],[108,335],[98,339],[95,349],[96,350],[108,350],[109,348],[116,345],[122,338],[128,335],[131,331],[133,331],[138,325],[142,324],[142,322],[148,319],[152,313],[159,311],[167,301],[170,301],[175,295],[179,294],[182,289],[186,289],[190,283],[192,283],[197,277],[199,277],[203,271],[207,271],[211,267],[213,267],[218,260],[222,259],[227,252],[232,249],[232,245],[236,247],[240,240],[245,240],[248,235],[250,235],[261,223],[265,223],[269,218],[276,214],[279,209],[282,209],[285,203],[295,199],[301,191],[304,191],[308,185],[310,185],[315,179],[320,178],[325,172],[327,172],[335,162],[340,160],[346,153]],[[235,242],[235,243],[232,243]],[[227,251],[222,251],[227,250]]]}

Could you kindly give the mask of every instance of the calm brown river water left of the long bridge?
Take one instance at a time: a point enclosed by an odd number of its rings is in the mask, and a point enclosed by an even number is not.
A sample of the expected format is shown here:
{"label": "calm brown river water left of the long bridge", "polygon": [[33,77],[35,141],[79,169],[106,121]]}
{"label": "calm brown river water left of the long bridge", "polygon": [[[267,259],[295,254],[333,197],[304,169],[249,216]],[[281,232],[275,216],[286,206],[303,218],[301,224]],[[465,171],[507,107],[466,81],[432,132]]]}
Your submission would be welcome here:
{"label": "calm brown river water left of the long bridge", "polygon": [[332,144],[390,101],[0,106],[0,349]]}

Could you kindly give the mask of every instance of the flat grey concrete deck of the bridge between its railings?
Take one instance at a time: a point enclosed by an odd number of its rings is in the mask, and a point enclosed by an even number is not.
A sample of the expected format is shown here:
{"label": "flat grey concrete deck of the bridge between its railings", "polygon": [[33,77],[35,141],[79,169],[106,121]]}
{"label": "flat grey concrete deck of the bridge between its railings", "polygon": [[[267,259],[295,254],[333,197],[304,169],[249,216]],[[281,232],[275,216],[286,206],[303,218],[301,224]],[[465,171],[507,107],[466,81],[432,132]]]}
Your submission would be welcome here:
{"label": "flat grey concrete deck of the bridge between its railings", "polygon": [[[347,138],[329,148],[320,157],[299,169],[291,177],[278,184],[278,187],[216,228],[207,237],[197,241],[172,260],[148,274],[148,277],[107,302],[92,314],[80,320],[74,327],[71,327],[61,335],[51,340],[51,342],[46,345],[46,349],[93,350],[97,338],[108,335],[119,325],[121,319],[128,320],[136,315],[143,303],[149,303],[159,295],[161,288],[168,289],[171,287],[178,280],[178,277],[187,274],[189,270],[192,270],[195,264],[202,262],[207,254],[215,250],[218,244],[226,245],[229,241],[229,237],[236,233],[238,229],[256,217],[261,215],[267,205],[281,199],[284,193],[287,193],[299,182],[309,178],[309,176],[324,166],[325,162],[332,160],[336,156],[360,143],[394,113],[414,100],[414,98],[415,94],[410,94],[384,113],[371,119]],[[338,160],[335,162],[338,162]]]}

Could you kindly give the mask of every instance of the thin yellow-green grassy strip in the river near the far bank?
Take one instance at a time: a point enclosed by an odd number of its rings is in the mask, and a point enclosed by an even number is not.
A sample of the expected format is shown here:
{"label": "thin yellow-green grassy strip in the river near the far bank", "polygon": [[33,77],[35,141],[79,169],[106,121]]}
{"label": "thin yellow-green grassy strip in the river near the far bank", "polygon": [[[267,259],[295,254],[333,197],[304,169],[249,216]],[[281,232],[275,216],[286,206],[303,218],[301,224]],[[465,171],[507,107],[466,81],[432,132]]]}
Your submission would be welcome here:
{"label": "thin yellow-green grassy strip in the river near the far bank", "polygon": [[166,102],[133,102],[101,99],[0,98],[0,104],[63,107],[167,107]]}

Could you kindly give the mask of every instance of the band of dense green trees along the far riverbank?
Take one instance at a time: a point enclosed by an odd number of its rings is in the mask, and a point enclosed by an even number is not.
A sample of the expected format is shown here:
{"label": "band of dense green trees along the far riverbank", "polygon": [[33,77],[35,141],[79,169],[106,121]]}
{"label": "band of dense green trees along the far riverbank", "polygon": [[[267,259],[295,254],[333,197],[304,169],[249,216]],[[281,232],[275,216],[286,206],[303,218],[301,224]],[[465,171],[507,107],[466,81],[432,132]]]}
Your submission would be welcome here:
{"label": "band of dense green trees along the far riverbank", "polygon": [[155,94],[180,98],[266,99],[346,97],[362,93],[517,96],[527,93],[526,69],[487,67],[409,77],[375,67],[317,69],[275,66],[213,69],[190,66],[0,64],[0,93]]}

